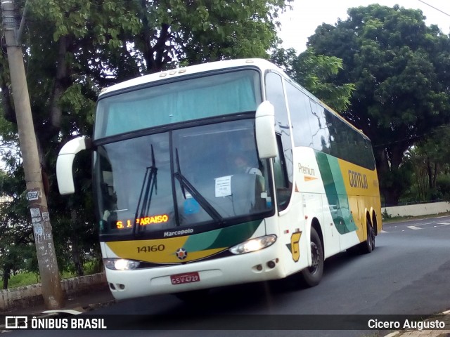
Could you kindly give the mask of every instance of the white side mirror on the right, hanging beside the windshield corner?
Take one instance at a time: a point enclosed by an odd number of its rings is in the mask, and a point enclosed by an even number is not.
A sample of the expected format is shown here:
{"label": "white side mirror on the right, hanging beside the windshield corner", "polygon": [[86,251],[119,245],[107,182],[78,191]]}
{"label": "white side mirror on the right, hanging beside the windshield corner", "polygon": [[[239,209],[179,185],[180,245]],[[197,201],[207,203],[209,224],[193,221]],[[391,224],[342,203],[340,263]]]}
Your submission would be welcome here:
{"label": "white side mirror on the right, hanging beside the windshield corner", "polygon": [[275,134],[275,108],[268,100],[259,105],[255,115],[256,145],[259,159],[278,155]]}

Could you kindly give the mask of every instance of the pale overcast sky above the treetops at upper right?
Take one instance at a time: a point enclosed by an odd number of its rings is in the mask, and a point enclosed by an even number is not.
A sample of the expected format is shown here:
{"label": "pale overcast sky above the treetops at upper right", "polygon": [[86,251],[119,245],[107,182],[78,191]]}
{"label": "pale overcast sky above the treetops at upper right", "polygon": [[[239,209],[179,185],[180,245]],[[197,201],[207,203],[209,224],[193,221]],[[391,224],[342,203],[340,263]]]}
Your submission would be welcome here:
{"label": "pale overcast sky above the treetops at upper right", "polygon": [[299,53],[306,49],[308,37],[323,22],[334,25],[338,18],[347,19],[348,8],[370,4],[389,7],[398,4],[404,8],[420,9],[428,26],[438,25],[445,34],[450,32],[448,0],[294,0],[291,4],[293,10],[281,15],[281,32],[278,36],[283,40],[283,48],[295,48]]}

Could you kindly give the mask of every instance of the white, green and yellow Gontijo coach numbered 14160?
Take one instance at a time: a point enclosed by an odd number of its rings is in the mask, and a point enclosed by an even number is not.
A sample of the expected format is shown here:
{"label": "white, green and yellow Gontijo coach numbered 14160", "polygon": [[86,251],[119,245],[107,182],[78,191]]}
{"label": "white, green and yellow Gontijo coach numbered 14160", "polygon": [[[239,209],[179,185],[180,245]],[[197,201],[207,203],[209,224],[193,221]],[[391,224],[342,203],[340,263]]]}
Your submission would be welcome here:
{"label": "white, green and yellow Gontijo coach numbered 14160", "polygon": [[371,252],[382,229],[370,140],[266,60],[106,88],[94,136],[60,150],[61,194],[85,149],[117,299],[295,273],[314,286],[326,258]]}

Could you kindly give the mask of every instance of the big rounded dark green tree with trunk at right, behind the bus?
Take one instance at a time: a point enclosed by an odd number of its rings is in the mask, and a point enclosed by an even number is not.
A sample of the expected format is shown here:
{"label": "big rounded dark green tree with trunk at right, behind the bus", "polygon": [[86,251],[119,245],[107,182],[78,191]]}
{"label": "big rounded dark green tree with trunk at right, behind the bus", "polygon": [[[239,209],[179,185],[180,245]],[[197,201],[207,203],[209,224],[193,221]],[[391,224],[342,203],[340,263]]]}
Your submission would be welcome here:
{"label": "big rounded dark green tree with trunk at right, behind the bus", "polygon": [[404,153],[449,120],[450,39],[427,27],[419,10],[375,4],[347,13],[345,21],[319,26],[308,46],[342,59],[335,83],[356,86],[342,115],[371,138],[380,190],[397,204],[408,180]]}

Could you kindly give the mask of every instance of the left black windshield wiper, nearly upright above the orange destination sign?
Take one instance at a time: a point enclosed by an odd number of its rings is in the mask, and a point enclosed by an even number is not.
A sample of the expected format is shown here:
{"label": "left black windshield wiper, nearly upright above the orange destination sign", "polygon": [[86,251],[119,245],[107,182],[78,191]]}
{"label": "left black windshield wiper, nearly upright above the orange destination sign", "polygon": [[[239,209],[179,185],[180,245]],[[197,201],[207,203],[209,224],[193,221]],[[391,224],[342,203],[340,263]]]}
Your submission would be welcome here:
{"label": "left black windshield wiper, nearly upright above the orange destination sign", "polygon": [[[153,145],[150,145],[152,150],[152,166],[146,168],[146,174],[143,177],[141,194],[139,194],[138,206],[136,207],[136,213],[134,216],[133,234],[140,232],[140,225],[137,225],[137,220],[148,216],[150,210],[150,202],[153,197],[153,190],[155,194],[158,194],[158,180],[156,179],[156,173],[158,168],[155,165],[155,152],[153,151]],[[136,227],[138,228],[136,230]]]}

